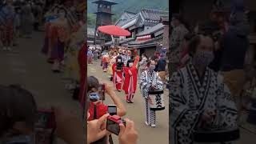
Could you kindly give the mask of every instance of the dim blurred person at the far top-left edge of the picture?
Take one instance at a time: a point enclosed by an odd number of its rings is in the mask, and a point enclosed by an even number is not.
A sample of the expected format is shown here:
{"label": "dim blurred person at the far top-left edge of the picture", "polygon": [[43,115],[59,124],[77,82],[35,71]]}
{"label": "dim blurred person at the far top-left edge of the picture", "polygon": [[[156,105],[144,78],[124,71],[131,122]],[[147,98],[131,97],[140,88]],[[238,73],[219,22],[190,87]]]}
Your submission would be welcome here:
{"label": "dim blurred person at the far top-left edge of the picture", "polygon": [[7,0],[6,5],[0,10],[0,37],[3,50],[11,50],[14,40],[15,10],[12,0]]}

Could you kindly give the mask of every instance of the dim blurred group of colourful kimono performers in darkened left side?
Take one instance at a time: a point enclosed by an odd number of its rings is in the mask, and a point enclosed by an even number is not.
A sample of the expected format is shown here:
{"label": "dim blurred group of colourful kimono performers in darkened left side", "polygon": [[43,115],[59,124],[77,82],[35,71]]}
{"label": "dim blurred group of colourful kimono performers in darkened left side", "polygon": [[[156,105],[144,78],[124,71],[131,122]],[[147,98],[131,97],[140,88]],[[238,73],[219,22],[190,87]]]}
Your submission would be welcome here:
{"label": "dim blurred group of colourful kimono performers in darkened left side", "polygon": [[80,81],[78,54],[86,46],[86,2],[54,4],[45,14],[42,53],[54,73],[64,72],[66,88],[74,90]]}

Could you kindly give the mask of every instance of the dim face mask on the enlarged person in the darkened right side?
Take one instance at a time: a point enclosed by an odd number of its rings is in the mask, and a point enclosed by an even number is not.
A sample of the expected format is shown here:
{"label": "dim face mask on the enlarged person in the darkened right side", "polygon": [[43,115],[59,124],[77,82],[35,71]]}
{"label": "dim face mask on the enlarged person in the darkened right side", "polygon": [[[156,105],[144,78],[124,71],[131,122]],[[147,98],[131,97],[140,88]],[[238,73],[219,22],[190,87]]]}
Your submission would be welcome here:
{"label": "dim face mask on the enlarged person in the darkened right side", "polygon": [[196,66],[206,67],[214,60],[214,54],[211,51],[198,51],[193,59]]}

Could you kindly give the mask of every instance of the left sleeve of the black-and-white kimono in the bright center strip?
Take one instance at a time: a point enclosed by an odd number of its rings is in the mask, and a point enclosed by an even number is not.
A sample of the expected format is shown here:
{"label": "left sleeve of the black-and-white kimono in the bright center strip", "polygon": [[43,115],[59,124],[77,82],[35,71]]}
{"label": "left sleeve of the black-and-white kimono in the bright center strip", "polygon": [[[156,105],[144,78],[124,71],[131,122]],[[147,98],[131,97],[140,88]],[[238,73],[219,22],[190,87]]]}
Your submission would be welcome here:
{"label": "left sleeve of the black-and-white kimono in the bright center strip", "polygon": [[144,98],[149,98],[149,89],[150,89],[150,84],[147,80],[147,76],[146,76],[146,71],[143,71],[142,72],[142,75],[141,75],[141,78],[140,78],[140,84],[139,84],[139,87],[142,91],[142,96]]}

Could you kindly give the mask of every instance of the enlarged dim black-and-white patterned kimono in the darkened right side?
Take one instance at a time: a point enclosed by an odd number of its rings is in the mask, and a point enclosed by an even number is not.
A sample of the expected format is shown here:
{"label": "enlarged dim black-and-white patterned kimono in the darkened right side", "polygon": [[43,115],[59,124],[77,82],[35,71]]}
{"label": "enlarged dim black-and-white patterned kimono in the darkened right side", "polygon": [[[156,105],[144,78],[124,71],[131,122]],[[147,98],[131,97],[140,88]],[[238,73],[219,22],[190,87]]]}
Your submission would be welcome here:
{"label": "enlarged dim black-and-white patterned kimono in the darkened right side", "polygon": [[208,67],[202,80],[191,63],[175,72],[170,78],[171,143],[193,143],[193,130],[202,130],[199,123],[206,111],[216,114],[207,131],[236,129],[238,115],[231,98],[222,75]]}

